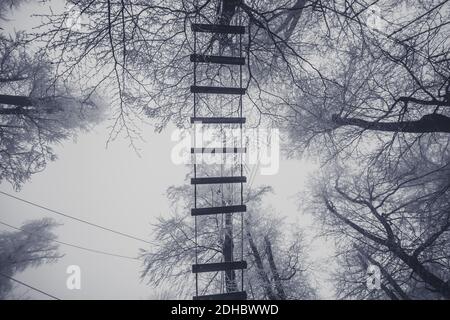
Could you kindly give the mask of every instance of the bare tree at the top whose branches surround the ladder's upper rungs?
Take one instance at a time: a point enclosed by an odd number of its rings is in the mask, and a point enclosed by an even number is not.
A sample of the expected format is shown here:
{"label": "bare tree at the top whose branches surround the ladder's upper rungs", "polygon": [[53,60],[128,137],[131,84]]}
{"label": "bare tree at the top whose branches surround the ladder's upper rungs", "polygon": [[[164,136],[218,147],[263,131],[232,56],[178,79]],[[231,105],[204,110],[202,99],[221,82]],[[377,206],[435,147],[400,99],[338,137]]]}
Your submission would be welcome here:
{"label": "bare tree at the top whose branches surround the ladder's upper rungs", "polygon": [[[127,135],[135,136],[138,128],[132,125],[133,119],[142,115],[154,119],[157,129],[169,121],[184,123],[190,113],[192,68],[188,59],[193,51],[190,23],[195,21],[236,24],[242,19],[243,25],[250,26],[249,39],[245,39],[250,63],[247,80],[249,87],[252,82],[255,87],[250,92],[248,108],[257,114],[276,114],[259,96],[270,96],[273,90],[268,86],[284,80],[286,70],[289,85],[296,79],[297,71],[293,68],[308,74],[314,69],[309,58],[299,54],[297,42],[300,28],[304,27],[300,18],[306,10],[311,14],[315,2],[83,0],[70,3],[82,13],[84,28],[68,28],[70,12],[64,12],[49,15],[43,25],[44,36],[37,36],[48,41],[47,49],[54,50],[60,66],[59,76],[82,72],[92,79],[93,88],[109,87],[117,107],[114,134],[124,130]],[[214,49],[217,39],[212,37],[205,50]],[[235,40],[222,40],[219,46],[232,49],[236,45]],[[227,68],[222,66],[221,70]],[[214,71],[208,77],[220,81]],[[257,100],[261,103],[256,104]]]}

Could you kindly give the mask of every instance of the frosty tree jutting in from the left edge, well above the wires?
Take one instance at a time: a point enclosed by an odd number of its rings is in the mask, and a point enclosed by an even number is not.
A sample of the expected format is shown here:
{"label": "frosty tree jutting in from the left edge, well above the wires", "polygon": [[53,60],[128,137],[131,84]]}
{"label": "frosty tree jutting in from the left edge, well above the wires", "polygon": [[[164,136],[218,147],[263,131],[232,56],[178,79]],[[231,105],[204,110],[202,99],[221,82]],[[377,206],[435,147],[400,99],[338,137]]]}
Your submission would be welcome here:
{"label": "frosty tree jutting in from the left edge, well above the wires", "polygon": [[50,61],[30,51],[23,34],[0,35],[0,182],[16,189],[56,159],[53,145],[104,117],[96,95],[55,80]]}

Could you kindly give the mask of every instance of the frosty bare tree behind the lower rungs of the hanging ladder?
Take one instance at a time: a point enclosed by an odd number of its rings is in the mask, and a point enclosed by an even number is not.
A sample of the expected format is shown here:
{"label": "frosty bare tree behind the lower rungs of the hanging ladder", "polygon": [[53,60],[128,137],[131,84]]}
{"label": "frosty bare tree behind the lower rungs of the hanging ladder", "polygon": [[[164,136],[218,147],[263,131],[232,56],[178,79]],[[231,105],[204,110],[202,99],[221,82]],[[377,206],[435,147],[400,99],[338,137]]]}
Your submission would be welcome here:
{"label": "frosty bare tree behind the lower rungs of the hanging ladder", "polygon": [[[313,299],[315,288],[311,284],[301,233],[294,228],[288,231],[280,219],[261,207],[261,199],[269,191],[262,187],[246,193],[249,211],[245,213],[243,231],[244,256],[249,263],[245,276],[248,294],[252,299]],[[154,225],[155,249],[142,251],[142,277],[152,285],[170,284],[179,296],[188,297],[194,292],[190,266],[195,261],[196,243],[191,217],[186,214],[192,205],[192,190],[190,186],[172,187],[168,195],[174,213],[171,217],[159,218]],[[221,215],[217,215],[199,222],[197,254],[200,261],[211,261],[223,254],[221,219]],[[238,221],[233,225],[233,245],[240,247]],[[218,275],[205,283],[206,289],[221,288]]]}

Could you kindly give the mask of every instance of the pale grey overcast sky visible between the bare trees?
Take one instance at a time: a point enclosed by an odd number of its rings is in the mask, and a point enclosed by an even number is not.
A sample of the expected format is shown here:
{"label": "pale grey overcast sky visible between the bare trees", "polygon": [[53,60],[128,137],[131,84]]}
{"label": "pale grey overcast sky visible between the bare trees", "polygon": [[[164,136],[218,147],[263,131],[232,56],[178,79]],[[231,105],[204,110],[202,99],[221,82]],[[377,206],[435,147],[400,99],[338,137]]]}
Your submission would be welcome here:
{"label": "pale grey overcast sky visible between the bare trees", "polygon": [[[53,1],[53,8],[61,10],[61,0]],[[25,5],[12,15],[6,27],[9,30],[29,28],[36,23],[29,18],[37,12]],[[34,21],[34,22],[33,22]],[[3,25],[5,26],[5,25]],[[187,120],[188,121],[188,120]],[[81,133],[77,141],[66,141],[55,146],[58,159],[49,163],[45,171],[32,176],[22,190],[15,193],[7,183],[0,190],[66,214],[118,230],[139,238],[151,240],[151,223],[155,217],[167,215],[169,206],[166,189],[184,181],[187,169],[171,161],[174,142],[173,128],[156,134],[148,125],[142,126],[146,142],[139,143],[141,157],[130,147],[129,141],[119,139],[106,148],[109,135],[106,121],[93,131]],[[267,184],[275,194],[265,199],[278,214],[298,221],[314,235],[312,220],[298,212],[298,196],[312,172],[314,164],[298,160],[280,161],[279,172],[272,176],[256,175],[254,185]],[[1,220],[20,226],[27,220],[52,217],[63,224],[55,229],[59,240],[125,256],[136,256],[139,248],[150,245],[111,234],[106,231],[69,220],[42,209],[21,203],[0,194]],[[0,226],[0,230],[11,231]],[[312,237],[308,237],[312,241]],[[30,268],[15,277],[61,299],[148,299],[156,298],[155,290],[141,282],[140,261],[111,257],[80,249],[60,246],[65,256],[57,263]],[[310,254],[323,259],[329,255],[328,244],[312,241]],[[318,260],[319,262],[319,260]],[[78,265],[82,272],[81,290],[68,290],[66,269]],[[322,298],[332,297],[326,279],[319,279]],[[16,296],[44,299],[45,296],[18,285]]]}

